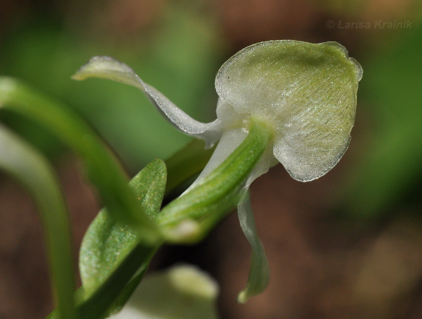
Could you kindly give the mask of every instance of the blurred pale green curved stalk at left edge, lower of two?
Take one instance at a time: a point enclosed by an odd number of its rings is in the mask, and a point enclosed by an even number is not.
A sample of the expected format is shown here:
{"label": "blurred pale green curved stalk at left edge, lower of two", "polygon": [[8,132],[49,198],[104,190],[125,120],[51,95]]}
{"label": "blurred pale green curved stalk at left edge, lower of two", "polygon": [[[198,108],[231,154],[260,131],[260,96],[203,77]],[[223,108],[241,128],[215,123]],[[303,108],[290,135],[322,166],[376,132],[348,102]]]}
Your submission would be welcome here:
{"label": "blurred pale green curved stalk at left edge, lower of two", "polygon": [[15,176],[30,192],[41,215],[52,286],[61,319],[75,319],[75,289],[70,225],[64,198],[47,160],[0,126],[0,168]]}

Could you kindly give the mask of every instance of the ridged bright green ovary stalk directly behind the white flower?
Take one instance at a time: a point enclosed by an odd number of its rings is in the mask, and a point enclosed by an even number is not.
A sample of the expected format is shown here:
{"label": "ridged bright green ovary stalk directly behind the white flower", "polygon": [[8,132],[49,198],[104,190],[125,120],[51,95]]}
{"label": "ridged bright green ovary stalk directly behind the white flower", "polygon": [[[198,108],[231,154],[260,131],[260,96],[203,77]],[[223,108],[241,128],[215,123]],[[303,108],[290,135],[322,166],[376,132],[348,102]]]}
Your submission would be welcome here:
{"label": "ridged bright green ovary stalk directly behind the white flower", "polygon": [[[166,238],[175,242],[195,242],[203,238],[234,207],[238,191],[260,160],[270,137],[271,130],[265,123],[251,120],[248,135],[235,151],[201,184],[173,200],[157,216]],[[195,234],[182,238],[177,227],[189,220],[199,222],[199,227]]]}

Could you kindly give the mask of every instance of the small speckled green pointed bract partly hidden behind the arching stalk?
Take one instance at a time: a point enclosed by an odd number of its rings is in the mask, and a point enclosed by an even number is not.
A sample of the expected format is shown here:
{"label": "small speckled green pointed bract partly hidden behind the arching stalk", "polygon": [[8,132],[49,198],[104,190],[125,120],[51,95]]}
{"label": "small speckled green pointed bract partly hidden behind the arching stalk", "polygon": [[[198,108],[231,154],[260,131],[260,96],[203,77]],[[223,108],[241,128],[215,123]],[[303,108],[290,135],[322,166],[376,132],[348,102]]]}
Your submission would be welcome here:
{"label": "small speckled green pointed bract partly hidden behind the arching stalk", "polygon": [[[165,163],[155,159],[130,181],[143,211],[154,218],[161,208],[166,182]],[[113,219],[103,208],[82,241],[79,269],[86,297],[95,292],[140,242],[129,224]]]}

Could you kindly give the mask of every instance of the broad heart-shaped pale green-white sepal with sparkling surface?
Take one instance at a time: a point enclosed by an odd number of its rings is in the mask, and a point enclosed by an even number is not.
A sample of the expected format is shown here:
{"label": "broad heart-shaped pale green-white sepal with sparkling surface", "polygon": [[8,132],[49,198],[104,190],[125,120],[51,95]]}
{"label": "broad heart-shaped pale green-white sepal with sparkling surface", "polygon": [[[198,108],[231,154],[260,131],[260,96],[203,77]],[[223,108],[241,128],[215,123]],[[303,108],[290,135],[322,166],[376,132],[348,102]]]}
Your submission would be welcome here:
{"label": "broad heart-shaped pale green-white sepal with sparkling surface", "polygon": [[336,42],[256,43],[225,62],[218,95],[274,130],[274,156],[298,181],[327,173],[343,156],[354,124],[362,68]]}

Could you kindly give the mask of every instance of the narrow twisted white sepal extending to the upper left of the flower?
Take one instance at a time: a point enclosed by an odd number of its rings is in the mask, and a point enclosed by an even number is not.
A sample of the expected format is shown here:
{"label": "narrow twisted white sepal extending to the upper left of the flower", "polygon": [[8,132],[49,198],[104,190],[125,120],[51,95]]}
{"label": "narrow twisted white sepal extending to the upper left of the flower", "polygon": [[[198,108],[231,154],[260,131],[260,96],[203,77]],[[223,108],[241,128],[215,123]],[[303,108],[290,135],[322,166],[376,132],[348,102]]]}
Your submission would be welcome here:
{"label": "narrow twisted white sepal extending to the upper left of the flower", "polygon": [[93,57],[72,76],[75,80],[91,77],[106,78],[137,87],[176,128],[189,135],[202,138],[206,141],[206,147],[212,147],[222,135],[219,119],[210,123],[202,123],[193,119],[160,91],[142,81],[129,66],[112,57]]}

